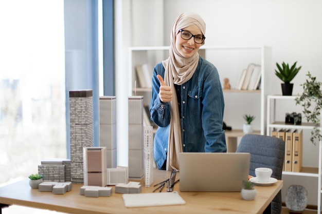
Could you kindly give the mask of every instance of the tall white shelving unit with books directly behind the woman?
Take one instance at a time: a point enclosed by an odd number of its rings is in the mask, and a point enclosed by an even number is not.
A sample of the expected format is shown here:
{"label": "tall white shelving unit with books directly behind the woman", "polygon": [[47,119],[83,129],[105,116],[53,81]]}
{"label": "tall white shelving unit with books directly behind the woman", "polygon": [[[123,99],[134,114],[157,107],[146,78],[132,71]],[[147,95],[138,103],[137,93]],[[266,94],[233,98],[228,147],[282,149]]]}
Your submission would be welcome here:
{"label": "tall white shelving unit with books directly behind the woman", "polygon": [[[266,95],[265,94],[265,72],[272,69],[272,49],[267,46],[252,47],[216,47],[202,46],[199,50],[201,56],[214,64],[222,79],[228,77],[231,85],[230,90],[224,90],[225,113],[224,121],[227,126],[232,126],[231,131],[226,131],[227,149],[230,152],[236,151],[237,138],[244,135],[242,124],[244,120],[242,115],[247,113],[248,107],[255,109],[257,115],[254,125],[254,133],[265,134],[266,127]],[[157,63],[167,59],[169,56],[169,46],[155,47],[130,47],[129,48],[129,95],[143,95],[145,105],[150,105],[151,88],[135,88],[137,81],[135,66],[150,64],[152,67]],[[261,65],[261,90],[236,90],[234,89],[240,72],[246,68],[249,63]],[[151,70],[152,76],[152,70]],[[136,84],[138,85],[138,84]],[[238,105],[234,103],[234,96],[241,99]],[[251,99],[252,104],[245,102],[245,99]],[[253,99],[254,98],[254,99]],[[230,103],[229,103],[230,102]],[[244,109],[240,108],[244,105]],[[253,112],[249,112],[253,113]],[[230,116],[230,119],[229,119]],[[227,120],[227,121],[226,121]],[[232,125],[231,125],[232,124]]]}

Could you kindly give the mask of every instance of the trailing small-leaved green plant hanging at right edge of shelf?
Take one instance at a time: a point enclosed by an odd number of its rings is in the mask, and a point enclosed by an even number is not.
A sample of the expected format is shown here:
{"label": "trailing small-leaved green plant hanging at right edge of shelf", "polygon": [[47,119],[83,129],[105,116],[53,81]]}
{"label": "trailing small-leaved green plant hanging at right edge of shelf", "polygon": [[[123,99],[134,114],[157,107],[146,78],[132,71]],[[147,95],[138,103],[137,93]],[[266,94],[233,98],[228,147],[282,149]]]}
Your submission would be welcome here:
{"label": "trailing small-leaved green plant hanging at right edge of shelf", "polygon": [[314,124],[314,128],[311,131],[311,142],[315,145],[315,139],[322,140],[320,133],[320,112],[322,109],[322,92],[320,86],[321,82],[316,81],[316,77],[312,76],[310,71],[306,74],[309,79],[305,83],[301,84],[303,87],[303,93],[295,98],[296,105],[301,105],[303,114],[307,118],[308,122]]}

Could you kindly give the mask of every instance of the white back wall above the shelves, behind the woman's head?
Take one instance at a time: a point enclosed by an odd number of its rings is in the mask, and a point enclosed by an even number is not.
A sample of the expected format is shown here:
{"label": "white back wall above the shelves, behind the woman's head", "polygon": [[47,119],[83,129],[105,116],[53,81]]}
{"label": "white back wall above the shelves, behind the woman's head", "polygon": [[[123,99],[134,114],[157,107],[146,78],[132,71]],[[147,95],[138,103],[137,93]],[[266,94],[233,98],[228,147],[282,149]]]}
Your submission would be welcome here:
{"label": "white back wall above the shelves, behind the woman's head", "polygon": [[[198,4],[190,0],[165,0],[165,33],[169,34],[178,14],[193,11],[206,22],[206,45],[271,46],[274,64],[298,61],[302,65],[293,81],[293,92],[297,94],[308,70],[322,81],[321,8],[319,0],[200,0]],[[165,45],[169,45],[167,38],[166,41]],[[272,83],[266,90],[281,93],[274,71],[265,77]]]}

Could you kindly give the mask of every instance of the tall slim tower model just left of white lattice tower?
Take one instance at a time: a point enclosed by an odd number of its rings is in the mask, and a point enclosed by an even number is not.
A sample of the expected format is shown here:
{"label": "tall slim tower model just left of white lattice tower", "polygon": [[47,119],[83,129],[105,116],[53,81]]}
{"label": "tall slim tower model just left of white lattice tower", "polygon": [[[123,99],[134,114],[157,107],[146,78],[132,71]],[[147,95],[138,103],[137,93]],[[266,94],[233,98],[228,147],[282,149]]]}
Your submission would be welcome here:
{"label": "tall slim tower model just left of white lattice tower", "polygon": [[144,177],[143,96],[129,96],[129,179]]}

